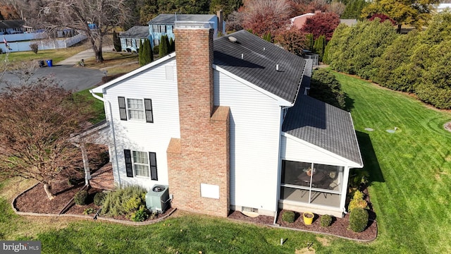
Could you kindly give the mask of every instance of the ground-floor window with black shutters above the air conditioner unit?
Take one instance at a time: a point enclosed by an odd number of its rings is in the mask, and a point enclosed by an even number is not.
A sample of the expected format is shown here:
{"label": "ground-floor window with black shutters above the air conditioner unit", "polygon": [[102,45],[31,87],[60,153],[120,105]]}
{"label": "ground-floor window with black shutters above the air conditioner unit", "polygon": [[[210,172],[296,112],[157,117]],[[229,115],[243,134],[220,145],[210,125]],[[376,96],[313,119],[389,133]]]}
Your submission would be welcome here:
{"label": "ground-floor window with black shutters above the air conditioner unit", "polygon": [[124,150],[125,171],[128,177],[150,177],[158,180],[156,153]]}

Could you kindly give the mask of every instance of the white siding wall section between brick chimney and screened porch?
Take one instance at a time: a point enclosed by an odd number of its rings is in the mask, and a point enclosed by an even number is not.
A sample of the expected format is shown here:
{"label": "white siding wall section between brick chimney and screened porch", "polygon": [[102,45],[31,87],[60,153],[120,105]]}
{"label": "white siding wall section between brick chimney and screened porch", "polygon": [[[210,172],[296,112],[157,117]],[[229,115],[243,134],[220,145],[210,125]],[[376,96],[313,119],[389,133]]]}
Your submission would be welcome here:
{"label": "white siding wall section between brick chimney and screened porch", "polygon": [[276,210],[280,107],[214,71],[214,104],[230,107],[230,205]]}

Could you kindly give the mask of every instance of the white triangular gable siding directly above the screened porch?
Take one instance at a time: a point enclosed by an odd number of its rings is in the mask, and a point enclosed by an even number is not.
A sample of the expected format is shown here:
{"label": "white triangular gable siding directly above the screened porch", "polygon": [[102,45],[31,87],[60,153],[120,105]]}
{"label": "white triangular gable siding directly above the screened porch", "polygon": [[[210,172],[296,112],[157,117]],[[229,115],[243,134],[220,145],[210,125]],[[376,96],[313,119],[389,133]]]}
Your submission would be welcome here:
{"label": "white triangular gable siding directly above the screened porch", "polygon": [[319,164],[346,166],[348,163],[338,155],[324,152],[314,145],[299,142],[297,138],[282,136],[280,145],[280,158],[295,162],[315,162]]}

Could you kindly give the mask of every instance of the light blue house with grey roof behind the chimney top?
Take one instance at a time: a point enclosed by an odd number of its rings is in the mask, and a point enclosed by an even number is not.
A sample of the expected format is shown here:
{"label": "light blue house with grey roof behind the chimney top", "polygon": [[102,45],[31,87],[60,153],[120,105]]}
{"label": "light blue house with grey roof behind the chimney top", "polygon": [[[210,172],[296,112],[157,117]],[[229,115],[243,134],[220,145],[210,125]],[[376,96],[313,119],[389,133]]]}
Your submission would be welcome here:
{"label": "light blue house with grey roof behind the chimney top", "polygon": [[218,37],[218,32],[226,34],[226,23],[223,21],[222,11],[218,11],[217,16],[214,14],[160,14],[153,20],[149,21],[149,32],[152,35],[152,47],[160,44],[161,35],[167,35],[168,38],[174,40],[174,24],[175,21],[190,23],[211,23],[214,29],[214,37]]}

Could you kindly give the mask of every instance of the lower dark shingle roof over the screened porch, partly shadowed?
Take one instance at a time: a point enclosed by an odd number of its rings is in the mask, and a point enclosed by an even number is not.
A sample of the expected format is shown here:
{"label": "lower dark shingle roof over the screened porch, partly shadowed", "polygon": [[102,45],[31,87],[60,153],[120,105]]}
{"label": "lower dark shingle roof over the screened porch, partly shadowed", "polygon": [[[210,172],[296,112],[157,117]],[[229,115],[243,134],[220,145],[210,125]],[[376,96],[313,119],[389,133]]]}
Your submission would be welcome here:
{"label": "lower dark shingle roof over the screened porch, partly shadowed", "polygon": [[299,95],[295,106],[288,109],[282,131],[363,165],[348,111]]}

